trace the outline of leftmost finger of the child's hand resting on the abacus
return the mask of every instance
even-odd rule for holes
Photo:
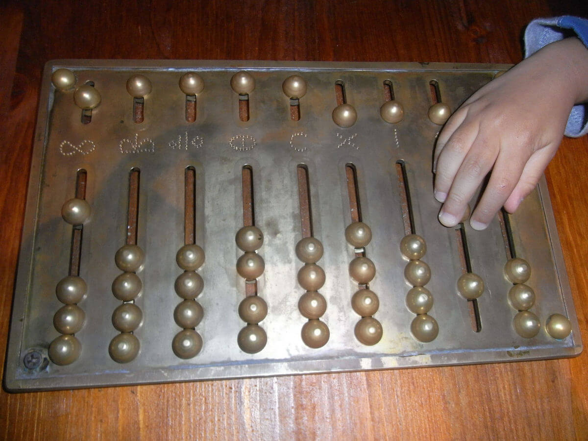
[[[435,174],[435,199],[439,202],[445,202],[453,180],[462,166],[462,162],[470,151],[473,142],[478,135],[479,126],[477,123],[462,125],[453,132],[453,135],[443,147],[442,153],[437,161],[437,172]]]

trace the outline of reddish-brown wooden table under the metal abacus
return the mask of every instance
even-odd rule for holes
[[[145,3],[145,5],[143,5]],[[43,65],[54,58],[515,63],[537,16],[579,0],[33,2],[0,6],[0,359],[14,289]],[[163,2],[162,2],[163,3]],[[171,3],[171,2],[170,2]],[[531,4],[529,4],[531,3]],[[125,8],[121,6],[125,4]],[[547,170],[588,342],[588,138]],[[588,436],[588,355],[500,365],[9,394],[6,439]],[[4,363],[2,363],[4,365]]]

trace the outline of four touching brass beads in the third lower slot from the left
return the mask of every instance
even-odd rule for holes
[[[202,337],[195,328],[202,321],[204,310],[195,299],[204,288],[204,280],[196,272],[204,260],[204,250],[193,243],[182,246],[176,254],[176,263],[184,272],[173,287],[183,301],[173,310],[173,319],[182,330],[173,338],[172,350],[182,359],[193,358],[202,349]]]

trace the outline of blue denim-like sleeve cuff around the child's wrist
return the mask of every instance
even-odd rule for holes
[[[556,18],[537,18],[524,31],[524,56],[531,56],[554,41],[577,36],[588,48],[588,19],[564,15]],[[588,75],[588,73],[587,73]],[[582,136],[588,133],[588,104],[573,106],[567,120],[566,136]]]

